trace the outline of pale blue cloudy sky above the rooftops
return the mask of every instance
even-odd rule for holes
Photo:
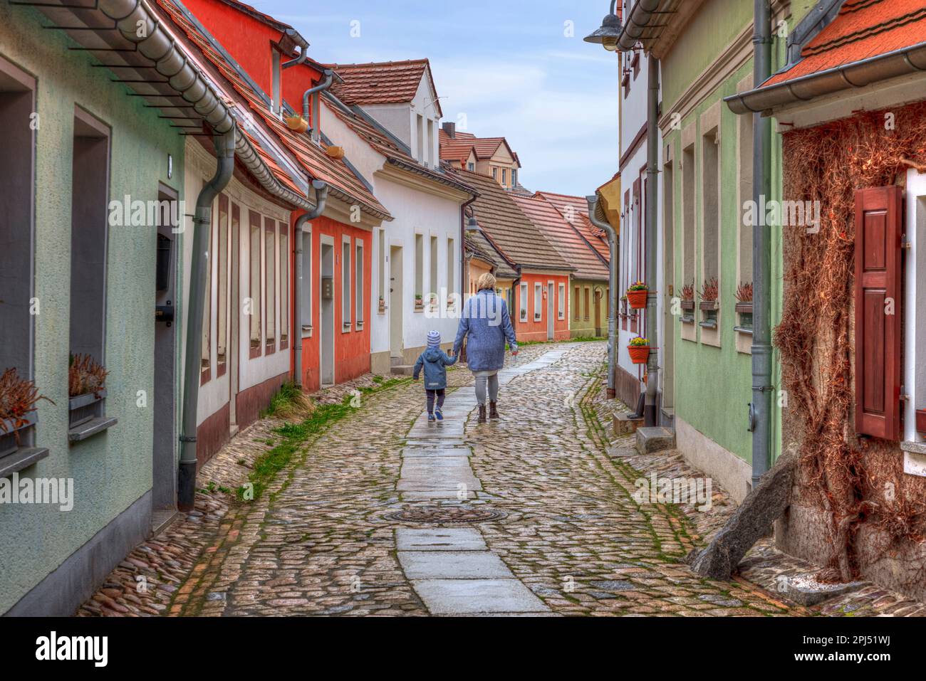
[[[428,57],[444,120],[465,114],[469,132],[506,137],[528,189],[584,195],[618,170],[618,58],[582,42],[607,0],[250,4],[292,24],[321,62]]]

